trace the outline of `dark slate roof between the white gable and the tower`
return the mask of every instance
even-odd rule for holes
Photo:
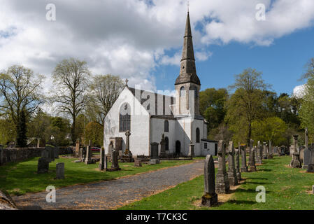
[[[145,90],[138,90],[141,91],[141,94],[139,94],[139,96],[136,94],[136,89],[132,88],[132,87],[128,87],[127,88],[131,91],[131,93],[134,95],[134,97],[136,97],[136,99],[138,99],[139,102],[141,102],[141,104],[143,105],[148,99],[150,99],[150,96],[148,96],[147,98],[143,99],[142,93]],[[163,119],[175,119],[173,116],[173,112],[170,111],[171,114],[166,114],[166,108],[170,109],[170,106],[173,105],[175,103],[175,98],[174,97],[170,97],[170,96],[166,96],[163,94],[157,94],[155,92],[150,92],[152,94],[155,94],[155,115],[152,115],[153,118],[163,118]],[[163,104],[162,105],[158,105],[158,99],[160,100],[159,97],[162,97],[163,99]],[[141,99],[140,99],[141,98]],[[162,114],[158,114],[158,106],[162,106]],[[145,108],[145,107],[144,107]],[[149,108],[145,108],[147,111],[149,110]]]

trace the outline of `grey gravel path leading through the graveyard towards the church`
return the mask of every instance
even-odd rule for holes
[[[115,209],[203,174],[204,160],[179,167],[113,181],[69,186],[56,190],[56,203],[45,201],[46,192],[13,197],[19,209]]]

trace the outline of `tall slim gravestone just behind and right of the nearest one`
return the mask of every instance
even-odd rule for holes
[[[216,191],[220,194],[229,193],[229,179],[226,171],[226,144],[220,140],[218,143],[218,172],[216,176]]]

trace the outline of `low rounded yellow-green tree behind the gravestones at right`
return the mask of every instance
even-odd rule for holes
[[[277,117],[265,118],[264,120],[254,120],[252,122],[252,139],[255,141],[272,141],[273,145],[281,146],[285,144],[285,132],[287,125]]]

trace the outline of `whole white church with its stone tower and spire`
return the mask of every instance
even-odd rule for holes
[[[180,75],[175,83],[176,96],[146,92],[126,85],[105,118],[106,153],[109,144],[125,151],[125,133],[129,131],[129,150],[134,156],[150,156],[151,144],[159,144],[163,136],[166,154],[188,155],[190,145],[194,145],[195,156],[217,154],[217,141],[207,139],[206,120],[199,113],[200,87],[190,15],[187,13]]]

